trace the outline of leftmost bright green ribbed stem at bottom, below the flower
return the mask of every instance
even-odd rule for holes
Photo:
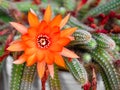
[[[20,90],[21,79],[23,74],[24,64],[13,64],[12,76],[10,81],[10,90]]]

